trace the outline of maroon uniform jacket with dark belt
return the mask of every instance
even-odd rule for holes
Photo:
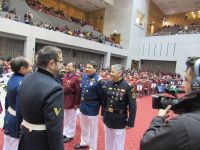
[[[64,108],[73,109],[80,104],[80,76],[76,73],[64,74],[62,85],[64,89]]]

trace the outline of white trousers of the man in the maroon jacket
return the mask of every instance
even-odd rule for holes
[[[73,138],[76,131],[76,110],[64,109],[63,135]]]

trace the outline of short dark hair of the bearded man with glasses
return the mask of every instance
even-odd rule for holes
[[[37,55],[37,67],[46,68],[49,61],[58,60],[58,55],[62,53],[61,49],[55,46],[44,46]]]

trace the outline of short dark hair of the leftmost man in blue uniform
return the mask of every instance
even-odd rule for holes
[[[20,71],[21,67],[28,68],[29,62],[25,57],[19,56],[16,58],[13,58],[10,62],[11,69],[14,73],[17,73]]]

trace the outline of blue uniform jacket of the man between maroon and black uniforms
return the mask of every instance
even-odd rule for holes
[[[101,101],[103,100],[101,77],[95,73],[92,76],[84,74],[82,77],[82,90],[80,111],[88,116],[99,114]]]

